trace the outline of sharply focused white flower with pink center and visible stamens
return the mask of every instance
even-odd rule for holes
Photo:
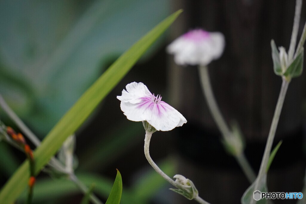
[[[131,121],[147,121],[156,130],[169,131],[186,123],[185,117],[172,106],[162,101],[160,95],[151,94],[143,83],[132,82],[126,85],[120,107]]]

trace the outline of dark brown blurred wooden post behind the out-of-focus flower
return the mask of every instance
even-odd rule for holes
[[[298,38],[306,20],[305,4]],[[184,12],[172,27],[171,40],[192,28],[225,35],[223,56],[209,65],[211,83],[226,121],[239,123],[246,138],[247,157],[257,172],[281,87],[281,78],[273,72],[270,41],[274,39],[277,46],[284,46],[288,51],[295,1],[173,0],[172,8],[173,11],[184,9]],[[171,104],[188,121],[182,127],[184,130],[177,131],[181,135],[179,151],[183,155],[179,173],[185,173],[191,180],[194,178],[201,196],[208,202],[239,203],[249,184],[220,144],[220,133],[203,97],[197,69],[175,65],[172,56],[169,61]],[[273,172],[272,165],[270,191],[301,191],[305,168],[301,161],[301,109],[305,89],[304,71],[292,80],[285,99],[275,137],[276,143],[281,139],[284,143],[273,163],[275,167],[280,161],[280,170]],[[192,139],[194,143],[190,142]],[[283,157],[291,161],[281,162]],[[287,176],[291,182],[280,181]],[[187,202],[178,198],[175,203]]]

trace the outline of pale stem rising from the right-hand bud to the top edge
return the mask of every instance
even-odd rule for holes
[[[293,54],[294,54],[295,46],[297,43],[297,33],[299,30],[299,25],[300,25],[301,10],[302,10],[302,0],[296,0],[293,28],[292,28],[290,46],[289,46],[289,51],[288,51],[289,64],[291,60],[293,59]]]

